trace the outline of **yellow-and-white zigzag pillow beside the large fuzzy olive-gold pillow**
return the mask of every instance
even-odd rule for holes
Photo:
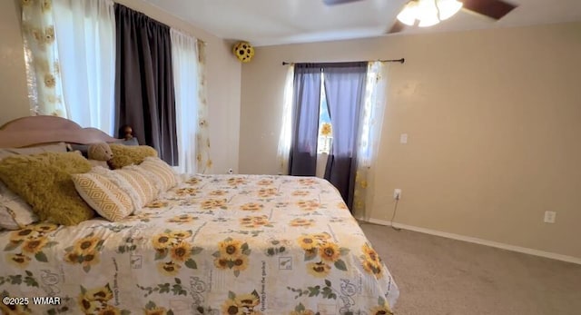
[[[71,177],[74,188],[81,198],[103,218],[109,221],[120,221],[133,212],[133,202],[129,194],[107,179],[105,175],[92,171],[73,174]]]

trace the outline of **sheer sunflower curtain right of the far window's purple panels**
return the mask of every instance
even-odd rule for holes
[[[359,124],[359,147],[353,214],[356,218],[369,219],[369,208],[373,205],[373,183],[377,161],[379,139],[383,124],[388,88],[388,64],[368,64],[365,103]]]

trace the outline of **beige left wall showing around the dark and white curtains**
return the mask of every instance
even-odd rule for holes
[[[142,0],[117,2],[206,42],[213,172],[237,171],[241,65],[231,54],[231,45]],[[0,124],[29,114],[19,3],[0,1]]]

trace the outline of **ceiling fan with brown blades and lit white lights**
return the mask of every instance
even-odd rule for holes
[[[340,5],[358,1],[361,0],[323,0],[323,3],[325,5]],[[433,17],[428,19],[429,21],[419,22],[420,27],[438,24],[441,20],[456,14],[460,8],[499,20],[517,7],[517,5],[512,5],[503,0],[409,0],[399,13],[396,22],[389,29],[388,34],[398,33],[406,25],[415,25],[417,16],[412,13],[417,14],[417,9],[423,10],[425,6],[429,6],[428,10],[435,11],[433,12]],[[444,13],[444,9],[447,9],[447,13]]]

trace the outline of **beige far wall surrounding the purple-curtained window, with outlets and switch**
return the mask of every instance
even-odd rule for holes
[[[581,23],[260,47],[242,66],[241,172],[277,172],[281,61],[405,57],[390,65],[371,217],[389,221],[400,188],[400,223],[581,258],[579,34]]]

